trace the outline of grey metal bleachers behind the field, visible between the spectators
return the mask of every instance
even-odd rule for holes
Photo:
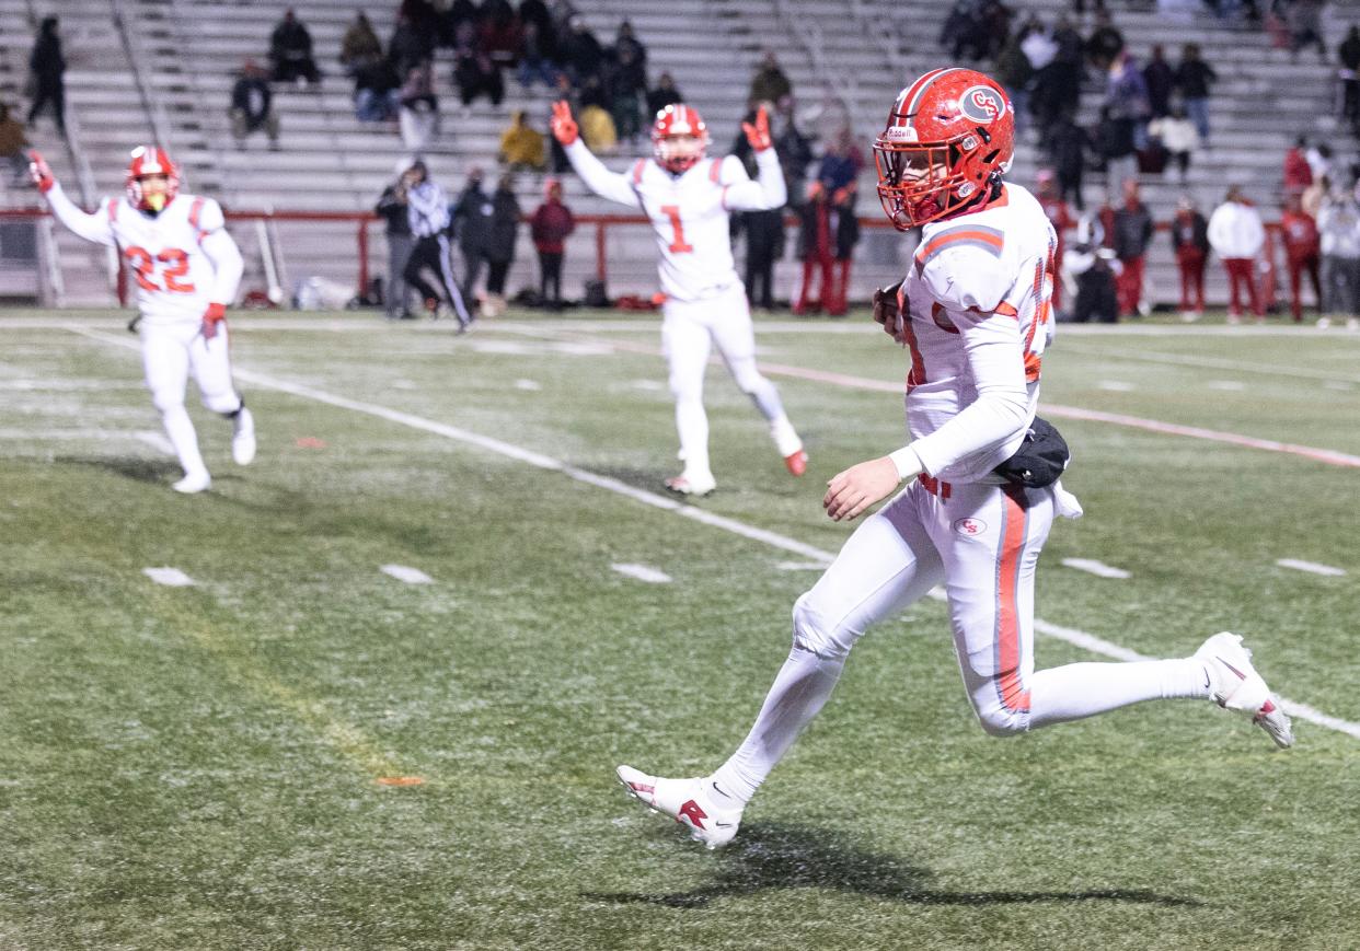
[[[231,84],[246,58],[265,60],[269,34],[291,5],[311,33],[316,58],[325,79],[320,88],[275,86],[282,120],[279,151],[269,151],[262,134],[238,148],[228,128]],[[117,194],[128,149],[156,140],[181,162],[185,187],[219,198],[228,211],[364,212],[390,181],[394,164],[405,158],[396,124],[364,124],[354,115],[352,83],[337,62],[340,39],[360,10],[379,37],[390,37],[394,0],[0,0],[0,95],[19,101],[33,29],[41,16],[61,19],[67,72],[68,126],[72,149],[56,137],[50,120],[39,118],[30,139],[49,155],[73,197],[92,205],[99,194]],[[1019,0],[1017,18],[1036,12],[1051,23],[1068,12],[1066,0]],[[647,45],[649,76],[668,71],[687,99],[709,121],[714,151],[734,141],[747,107],[752,71],[766,49],[779,56],[790,76],[805,132],[827,136],[849,121],[861,143],[879,130],[884,110],[913,76],[940,65],[940,24],[948,4],[937,0],[590,0],[581,15],[605,45],[624,18]],[[1156,217],[1166,220],[1176,198],[1191,192],[1202,208],[1221,198],[1229,181],[1240,182],[1273,217],[1280,160],[1293,136],[1333,134],[1329,71],[1311,52],[1291,57],[1270,48],[1259,31],[1236,30],[1195,18],[1172,22],[1151,10],[1111,3],[1115,24],[1134,56],[1144,58],[1152,43],[1163,43],[1174,58],[1187,38],[1198,42],[1219,71],[1214,90],[1212,149],[1195,159],[1186,187],[1174,177],[1144,177],[1145,198]],[[1080,24],[1089,29],[1088,24]],[[1329,42],[1340,39],[1342,24],[1327,22]],[[979,68],[986,68],[981,64]],[[511,110],[525,109],[530,121],[547,129],[549,92],[543,86],[522,90],[506,76],[500,106],[479,101],[458,105],[447,53],[437,60],[441,130],[426,149],[432,175],[456,194],[472,166],[494,179],[500,130]],[[1083,120],[1092,120],[1102,88],[1083,96]],[[1270,117],[1270,121],[1263,121]],[[1281,117],[1288,117],[1281,121]],[[623,168],[632,156],[646,155],[646,137],[622,143],[608,164]],[[80,160],[83,159],[83,167]],[[1040,164],[1035,144],[1021,137],[1012,178],[1034,179]],[[517,193],[525,212],[541,194],[541,174],[521,174]],[[864,173],[860,213],[873,216],[872,162]],[[83,187],[76,187],[78,185]],[[566,177],[567,201],[579,213],[620,213]],[[794,185],[797,187],[797,185]],[[1099,204],[1100,177],[1088,177],[1088,204]],[[33,205],[31,192],[10,189],[0,200],[8,207]],[[112,299],[107,259],[57,228],[63,303],[107,303]],[[371,259],[382,270],[385,247],[381,227],[373,226]],[[356,227],[352,221],[273,221],[268,227],[238,221],[233,232],[248,258],[248,288],[264,281],[264,247],[272,246],[279,283],[291,291],[307,276],[354,285]],[[790,242],[792,246],[793,242]],[[1164,238],[1149,261],[1149,288],[1156,300],[1175,295],[1174,270]],[[864,296],[880,283],[885,269],[900,259],[903,243],[891,231],[866,231],[853,292]],[[533,285],[536,265],[528,235],[522,235],[510,291]],[[607,243],[609,291],[650,293],[656,287],[654,251],[645,228],[609,231]],[[787,255],[792,258],[792,254]],[[798,265],[781,262],[781,296],[797,283]],[[594,234],[578,231],[567,251],[566,291],[579,293],[594,273]],[[1210,296],[1223,293],[1217,269],[1210,269]]]

